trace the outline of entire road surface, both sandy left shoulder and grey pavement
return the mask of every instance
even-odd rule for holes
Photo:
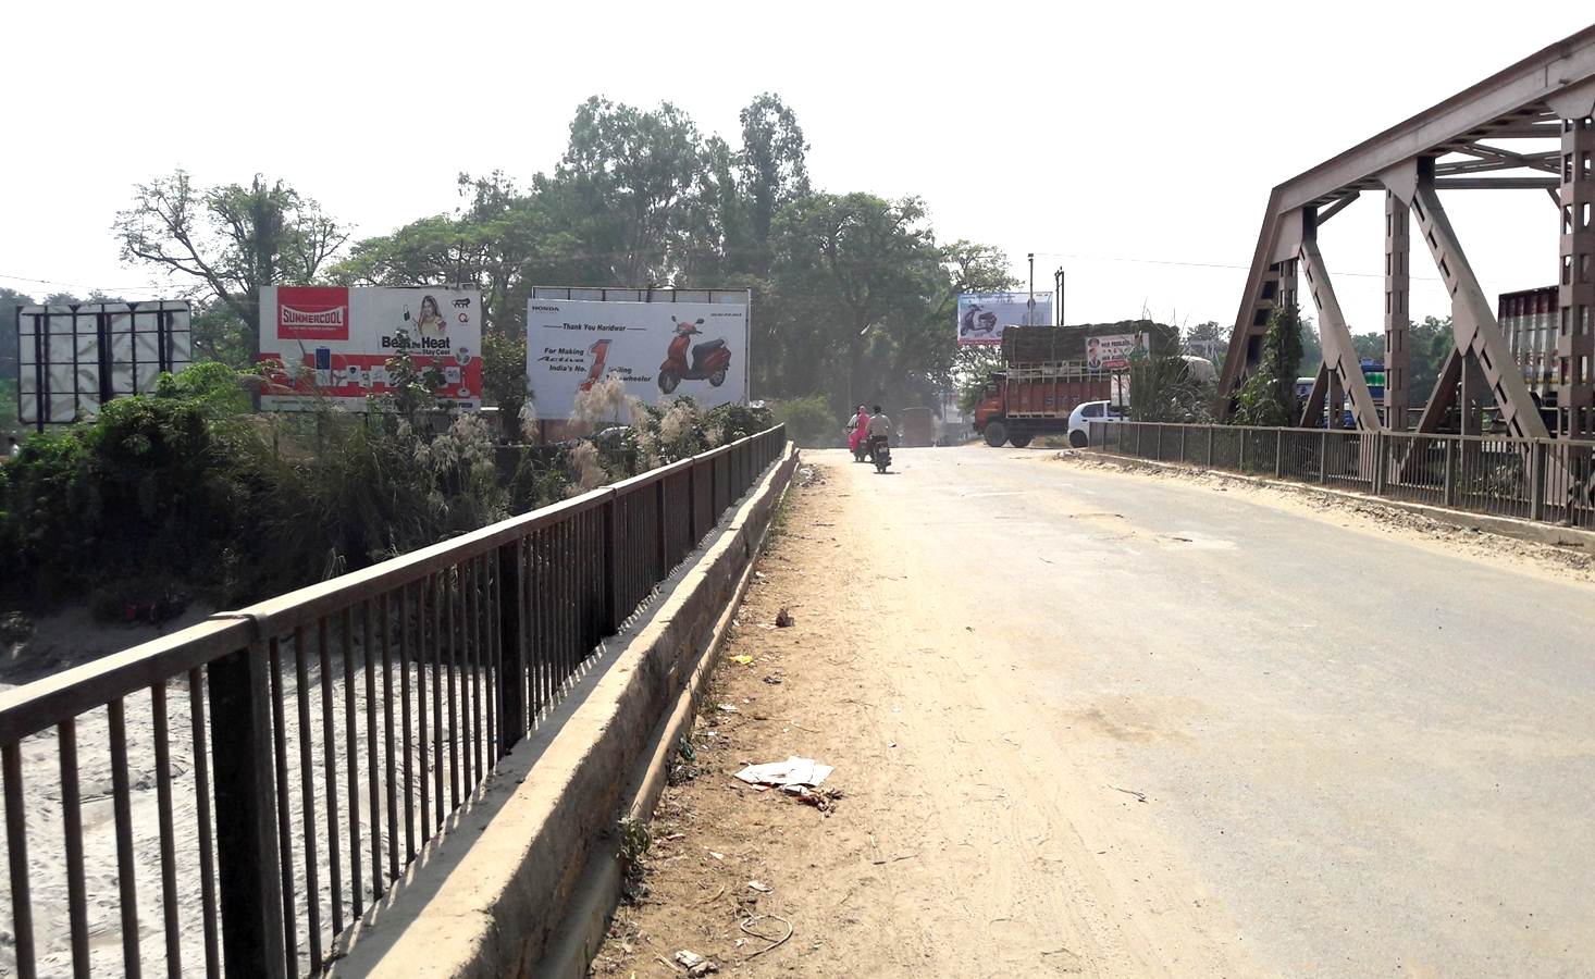
[[[1584,563],[1050,451],[805,461],[597,974],[1595,971]],[[834,812],[731,778],[788,754]]]

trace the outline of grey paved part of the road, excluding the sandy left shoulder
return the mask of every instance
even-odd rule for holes
[[[1153,947],[1211,928],[1235,971],[1595,974],[1595,588],[1051,454],[809,456],[857,494],[847,533],[981,630],[1006,737],[1096,813],[1089,871],[1201,909],[1152,907]]]

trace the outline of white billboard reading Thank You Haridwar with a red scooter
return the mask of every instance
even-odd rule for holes
[[[684,303],[547,298],[526,303],[526,378],[542,418],[569,418],[577,392],[612,376],[649,405],[748,399],[748,293]],[[668,293],[656,293],[668,295]]]

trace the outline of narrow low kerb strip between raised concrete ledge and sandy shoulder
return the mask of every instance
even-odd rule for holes
[[[796,448],[791,450],[790,458],[783,464],[796,467]],[[785,499],[790,478],[788,474],[788,485],[782,485],[777,493],[775,507]],[[648,823],[652,820],[654,807],[659,805],[659,797],[664,794],[665,781],[670,777],[670,759],[675,757],[676,745],[692,729],[692,721],[697,718],[699,703],[708,689],[710,676],[715,673],[715,660],[726,644],[731,622],[742,607],[742,598],[748,593],[748,585],[753,584],[753,569],[758,566],[759,553],[764,552],[770,523],[770,520],[766,520],[759,529],[753,547],[753,560],[743,568],[735,593],[726,603],[726,611],[715,620],[713,630],[703,643],[703,655],[699,657],[697,668],[692,670],[692,678],[687,681],[686,689],[681,690],[675,710],[659,722],[652,751],[640,762],[632,778],[632,805],[625,815],[633,821]],[[598,953],[598,947],[603,946],[609,933],[609,920],[614,917],[616,904],[620,899],[620,861],[593,859],[589,864],[587,875],[576,887],[566,906],[565,918],[560,922],[558,936],[552,949],[531,973],[538,979],[585,979],[593,955]]]

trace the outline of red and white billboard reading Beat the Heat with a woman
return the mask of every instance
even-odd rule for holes
[[[260,360],[281,360],[260,397],[295,411],[314,399],[364,410],[389,394],[388,359],[408,349],[416,370],[437,367],[439,399],[482,403],[482,293],[475,289],[346,289],[266,285],[260,290]]]

